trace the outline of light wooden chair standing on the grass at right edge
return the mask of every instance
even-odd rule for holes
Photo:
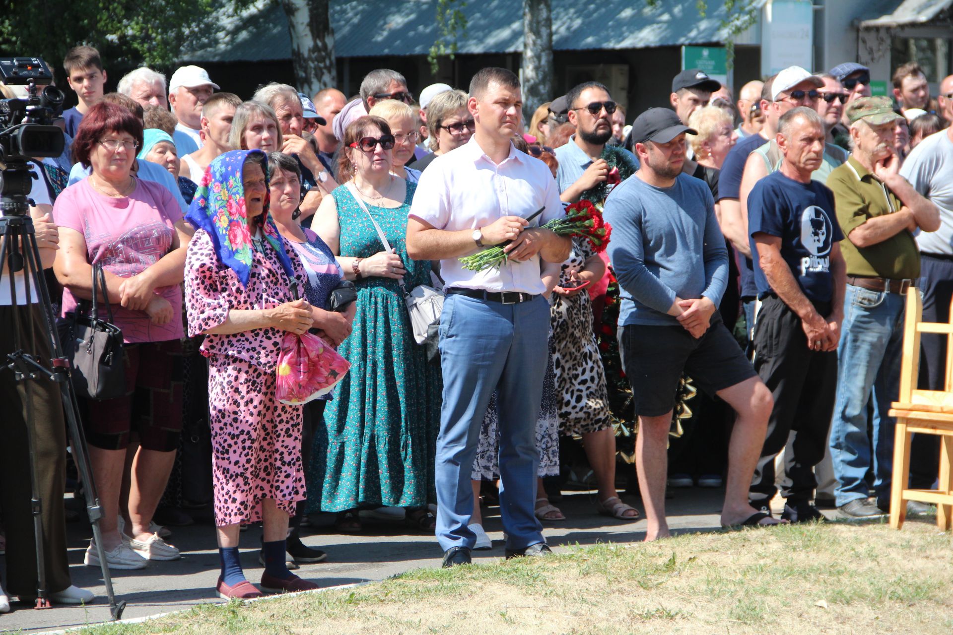
[[[946,380],[943,390],[917,388],[921,333],[946,336]],[[937,525],[941,529],[953,528],[953,472],[950,471],[953,464],[953,322],[923,322],[923,300],[919,288],[911,287],[906,295],[900,396],[889,414],[897,418],[890,526],[896,529],[902,527],[907,501],[921,501],[936,504]],[[914,432],[936,434],[941,438],[939,489],[906,487],[910,479],[910,439]]]

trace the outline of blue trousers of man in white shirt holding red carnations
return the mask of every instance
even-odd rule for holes
[[[436,439],[436,539],[473,548],[471,468],[479,430],[499,389],[499,510],[506,548],[545,542],[533,513],[537,416],[549,355],[549,303],[503,305],[450,293],[440,316],[443,405]]]

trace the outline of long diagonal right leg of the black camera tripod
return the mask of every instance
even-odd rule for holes
[[[39,248],[36,245],[36,237],[30,233],[30,248],[25,249],[27,258],[31,262],[33,271],[40,271],[36,266],[40,263]],[[122,612],[126,608],[125,602],[116,602],[115,594],[112,590],[112,576],[110,575],[109,565],[106,562],[106,554],[103,552],[103,541],[99,531],[99,520],[103,516],[102,506],[99,503],[99,497],[96,494],[96,486],[92,480],[92,466],[90,465],[90,456],[86,446],[86,436],[79,427],[79,406],[76,402],[76,395],[72,390],[70,382],[69,366],[64,364],[66,355],[59,341],[59,333],[56,330],[56,319],[52,313],[52,304],[50,301],[50,290],[47,288],[46,279],[42,273],[35,276],[36,287],[39,289],[43,313],[47,324],[47,334],[50,337],[53,359],[51,360],[51,379],[59,384],[60,396],[63,401],[63,410],[66,414],[67,425],[70,430],[71,446],[73,458],[76,462],[76,468],[79,470],[80,477],[86,487],[86,511],[90,517],[92,527],[92,539],[96,546],[99,556],[99,564],[103,573],[103,583],[106,585],[106,596],[110,603],[110,612],[113,620],[122,617]]]

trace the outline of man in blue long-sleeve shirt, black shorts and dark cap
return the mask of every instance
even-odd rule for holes
[[[672,110],[639,115],[632,138],[641,168],[613,190],[604,212],[621,288],[622,367],[639,416],[636,467],[648,520],[645,540],[669,535],[665,447],[682,371],[738,412],[721,524],[777,524],[748,505],[773,401],[716,310],[728,254],[711,192],[681,173],[686,131],[695,133]]]

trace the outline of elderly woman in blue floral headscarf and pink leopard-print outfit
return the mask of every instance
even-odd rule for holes
[[[275,399],[284,331],[306,332],[311,307],[298,299],[305,272],[269,218],[268,162],[260,150],[232,150],[206,171],[187,219],[195,236],[186,257],[189,334],[206,335],[212,427],[219,596],[261,593],[238,560],[241,525],[262,521],[263,590],[302,591],[314,583],[285,564],[289,517],[305,499],[301,407]]]

